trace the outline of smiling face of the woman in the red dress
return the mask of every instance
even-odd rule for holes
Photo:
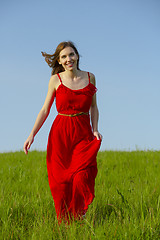
[[[72,47],[64,48],[59,54],[59,64],[62,64],[65,70],[77,68],[78,56]]]

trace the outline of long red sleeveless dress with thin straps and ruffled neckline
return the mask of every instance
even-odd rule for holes
[[[56,90],[58,113],[89,112],[97,88],[90,82],[72,90],[62,83]],[[79,219],[94,199],[96,156],[101,139],[93,135],[90,115],[57,115],[48,137],[47,171],[57,219]]]

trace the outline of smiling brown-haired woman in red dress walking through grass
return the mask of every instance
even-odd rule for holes
[[[46,157],[49,185],[59,222],[82,219],[94,199],[96,156],[102,140],[95,77],[79,69],[79,53],[70,41],[60,43],[53,55],[42,55],[52,76],[24,152],[28,153],[55,98],[58,115],[49,133]]]

